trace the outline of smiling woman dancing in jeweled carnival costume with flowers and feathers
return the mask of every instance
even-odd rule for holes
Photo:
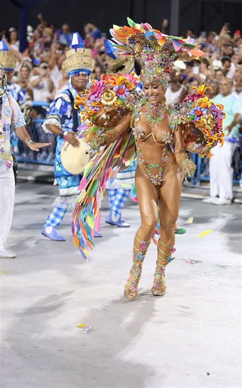
[[[198,89],[198,94],[188,96],[184,103],[168,110],[165,91],[171,67],[173,64],[183,67],[181,58],[197,58],[203,52],[197,49],[192,39],[167,36],[147,23],[135,24],[129,18],[128,23],[130,27],[114,26],[111,34],[117,43],[115,47],[123,55],[132,55],[140,62],[145,96],[132,92],[128,80],[134,84],[135,77],[119,74],[118,77],[102,76],[97,84],[93,84],[86,105],[83,99],[76,97],[76,106],[85,105],[84,111],[92,124],[97,124],[92,114],[94,110],[100,110],[96,116],[105,121],[98,120],[98,126],[87,128],[83,133],[85,141],[90,141],[93,148],[105,147],[84,171],[82,191],[73,214],[72,233],[76,246],[86,257],[85,243],[90,247],[93,245],[93,220],[98,214],[107,179],[115,176],[122,162],[129,165],[136,150],[135,185],[141,226],[134,237],[133,265],[125,286],[125,296],[134,300],[138,294],[142,263],[154,238],[158,205],[160,238],[151,291],[153,295],[165,293],[165,268],[174,259],[174,226],[179,213],[182,180],[196,170],[184,146],[204,156],[214,145],[222,143],[223,113],[221,106],[215,106],[204,96],[204,85]],[[107,95],[116,105],[116,111],[120,106],[124,111],[117,123],[115,120],[112,123],[107,111],[102,114]]]

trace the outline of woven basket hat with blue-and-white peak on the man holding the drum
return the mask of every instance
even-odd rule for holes
[[[78,32],[72,36],[71,50],[66,52],[66,59],[62,64],[63,70],[69,77],[80,73],[91,74],[94,69],[94,60],[91,50],[85,48],[85,42]]]

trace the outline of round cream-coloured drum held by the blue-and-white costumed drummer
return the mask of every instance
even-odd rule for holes
[[[82,174],[90,161],[88,145],[82,139],[77,139],[80,143],[78,148],[75,148],[67,141],[64,142],[61,148],[61,163],[71,175]]]

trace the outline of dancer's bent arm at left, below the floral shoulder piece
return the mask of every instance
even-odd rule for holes
[[[128,128],[130,124],[131,113],[127,111],[117,125],[112,129],[105,131],[101,135],[95,135],[91,139],[90,146],[92,149],[99,149],[102,145],[113,143],[117,140]]]

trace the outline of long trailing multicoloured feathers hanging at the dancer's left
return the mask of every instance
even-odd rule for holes
[[[104,147],[87,164],[79,189],[81,193],[72,213],[74,243],[87,260],[86,244],[92,249],[93,227],[101,207],[103,193],[109,178],[114,178],[122,163],[132,162],[135,154],[134,136],[128,128],[114,143]],[[117,158],[118,162],[117,162]],[[126,164],[128,165],[128,164]]]

